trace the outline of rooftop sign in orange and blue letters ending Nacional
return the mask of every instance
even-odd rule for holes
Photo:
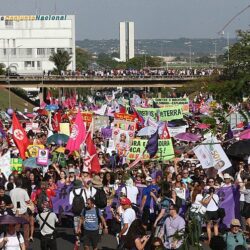
[[[56,21],[67,20],[67,15],[1,16],[1,21]]]

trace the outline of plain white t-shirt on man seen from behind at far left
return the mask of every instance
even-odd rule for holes
[[[19,214],[25,214],[27,212],[26,201],[30,200],[30,197],[26,190],[23,188],[14,188],[10,191],[10,198],[14,205],[14,211],[17,210],[17,203],[20,202]]]

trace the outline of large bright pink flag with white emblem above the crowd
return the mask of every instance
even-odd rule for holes
[[[71,134],[66,149],[68,149],[70,152],[73,152],[74,150],[79,150],[80,145],[83,143],[85,137],[86,128],[83,123],[82,114],[79,111],[76,116],[75,123],[71,127]]]

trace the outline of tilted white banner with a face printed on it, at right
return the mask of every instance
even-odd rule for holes
[[[221,145],[213,144],[218,143],[215,137],[208,138],[202,143],[204,143],[204,145],[195,147],[193,151],[203,168],[214,167],[218,170],[218,173],[220,173],[232,166]]]

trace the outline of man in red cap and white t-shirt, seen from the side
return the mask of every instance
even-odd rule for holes
[[[121,198],[120,204],[122,206],[122,209],[124,210],[124,213],[122,213],[121,215],[122,225],[121,225],[121,231],[119,233],[119,238],[120,242],[124,242],[124,239],[126,237],[130,225],[136,219],[136,214],[134,209],[132,208],[132,203],[130,199],[128,199],[127,197]]]

